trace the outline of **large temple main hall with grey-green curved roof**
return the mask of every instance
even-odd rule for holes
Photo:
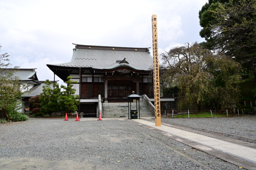
[[[75,95],[83,112],[97,113],[99,95],[104,104],[127,102],[132,91],[154,101],[149,48],[74,45],[70,62],[47,66],[64,82],[68,76],[78,82]]]

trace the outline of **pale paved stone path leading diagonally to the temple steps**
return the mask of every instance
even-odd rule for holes
[[[138,123],[142,123],[144,125],[151,126],[152,128],[159,129],[161,131],[165,131],[167,133],[179,136],[181,138],[185,138],[188,140],[191,140],[193,142],[197,142],[199,144],[202,144],[204,146],[210,147],[212,149],[216,149],[222,152],[225,152],[230,155],[237,156],[239,158],[243,158],[247,161],[251,161],[253,163],[256,163],[256,149],[252,147],[243,146],[240,144],[235,144],[232,142],[227,142],[221,139],[216,139],[213,137],[172,128],[166,125],[161,126],[155,126],[155,123],[149,122],[142,119],[132,119]]]

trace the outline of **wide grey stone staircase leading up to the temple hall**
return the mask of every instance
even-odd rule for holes
[[[128,117],[128,103],[103,103],[103,106],[104,118]],[[137,103],[137,106],[139,109],[139,103]],[[136,110],[136,103],[132,103],[131,107],[132,110]],[[154,116],[154,114],[149,110],[149,107],[146,104],[140,102],[140,116],[149,117]]]

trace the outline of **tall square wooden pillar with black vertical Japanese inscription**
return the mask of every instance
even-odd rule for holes
[[[155,126],[161,126],[160,110],[160,78],[158,62],[158,38],[157,38],[157,19],[152,15],[152,45],[153,45],[153,70],[154,70],[154,97],[155,97]]]

